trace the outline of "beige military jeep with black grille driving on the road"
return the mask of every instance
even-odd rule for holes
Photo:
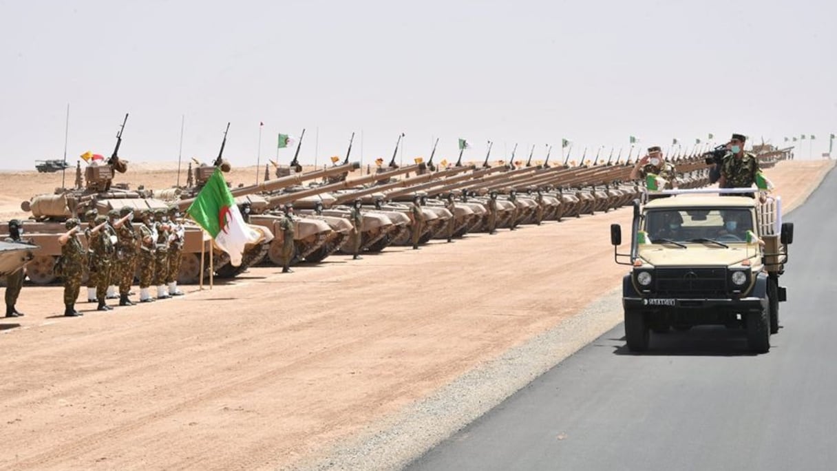
[[[666,190],[668,198],[634,200],[630,253],[620,254],[622,230],[611,225],[623,278],[628,349],[649,348],[651,334],[697,325],[744,329],[747,347],[770,349],[779,329],[778,284],[793,242],[782,223],[781,197],[754,199],[752,189]]]

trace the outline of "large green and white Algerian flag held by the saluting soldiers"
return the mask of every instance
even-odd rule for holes
[[[221,250],[229,254],[233,267],[241,265],[244,246],[258,242],[262,237],[244,224],[220,168],[215,169],[186,212],[212,236]]]

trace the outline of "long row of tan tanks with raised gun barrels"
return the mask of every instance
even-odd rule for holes
[[[22,209],[30,213],[26,224],[28,237],[38,246],[28,262],[28,277],[33,283],[55,281],[53,268],[60,255],[58,235],[64,232],[64,221],[69,217],[79,217],[90,209],[104,214],[123,206],[157,210],[176,205],[183,211],[216,168],[227,172],[231,168],[222,158],[225,136],[213,164],[199,164],[191,169],[189,186],[149,190],[116,184],[116,173],[127,171],[127,163],[118,157],[124,125],[123,122],[117,134],[111,158],[85,168],[82,188],[56,189],[54,194],[23,202]],[[239,267],[231,265],[223,251],[213,251],[215,274],[235,277],[255,265],[282,265],[283,234],[279,222],[287,204],[295,208],[293,265],[321,262],[348,251],[351,205],[356,202],[362,204],[361,251],[378,252],[412,242],[416,224],[413,204],[420,205],[423,215],[419,244],[424,244],[449,236],[460,238],[474,232],[607,212],[630,204],[644,191],[629,179],[631,163],[570,166],[565,162],[550,166],[547,154],[542,165],[531,165],[530,156],[525,165],[492,166],[489,148],[479,167],[461,164],[460,154],[453,166],[436,168],[431,154],[428,163],[399,168],[393,153],[387,166],[379,162],[374,173],[354,177],[360,164],[350,163],[349,153],[342,163],[306,173],[299,171],[301,167],[294,158],[288,167],[277,168],[276,179],[231,188],[245,219],[262,237],[246,248]],[[770,164],[783,158],[788,158],[787,152],[770,153],[764,160]],[[708,168],[700,156],[679,158],[675,163],[680,188],[709,184]],[[198,282],[201,256],[208,253],[211,243],[198,225],[187,223],[179,283]],[[204,264],[204,270],[208,266]]]

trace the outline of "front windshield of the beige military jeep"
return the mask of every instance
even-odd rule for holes
[[[747,240],[753,230],[752,210],[747,208],[677,208],[648,210],[643,230],[651,243],[705,244],[727,247]]]

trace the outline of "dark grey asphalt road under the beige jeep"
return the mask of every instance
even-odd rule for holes
[[[619,325],[408,469],[837,468],[835,197],[831,172],[785,218],[788,302],[768,354],[713,327],[631,355]]]

